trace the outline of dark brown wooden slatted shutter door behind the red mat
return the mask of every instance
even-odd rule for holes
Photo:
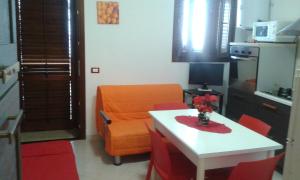
[[[75,126],[69,2],[19,0],[23,131]]]

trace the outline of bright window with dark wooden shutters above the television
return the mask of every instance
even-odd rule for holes
[[[175,0],[173,61],[226,61],[235,0]]]

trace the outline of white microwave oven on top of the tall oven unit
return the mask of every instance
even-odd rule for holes
[[[283,36],[277,33],[287,26],[286,21],[254,22],[252,37],[260,42],[295,42],[295,36]]]

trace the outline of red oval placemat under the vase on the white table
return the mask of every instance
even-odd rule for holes
[[[214,122],[212,120],[209,121],[208,125],[201,126],[199,125],[198,117],[195,116],[176,116],[176,121],[182,124],[185,124],[189,127],[201,130],[201,131],[208,131],[213,133],[230,133],[231,129],[224,124],[220,124],[217,122]]]

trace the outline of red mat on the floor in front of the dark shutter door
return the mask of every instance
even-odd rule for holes
[[[68,141],[23,144],[21,156],[23,180],[79,180]]]

